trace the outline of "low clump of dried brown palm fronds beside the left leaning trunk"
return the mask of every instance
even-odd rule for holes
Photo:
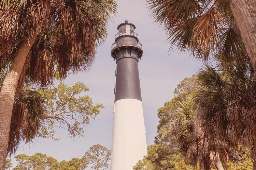
[[[46,117],[47,99],[33,90],[21,90],[13,107],[8,153],[11,155],[20,141],[30,143],[39,135]]]

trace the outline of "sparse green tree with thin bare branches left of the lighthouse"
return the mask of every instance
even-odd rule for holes
[[[48,127],[44,126],[40,133],[43,137],[54,138],[53,124],[66,128],[71,137],[81,136],[85,125],[90,123],[90,119],[95,119],[100,113],[100,108],[104,108],[102,104],[93,105],[93,100],[89,96],[82,95],[89,91],[82,82],[77,82],[71,87],[61,82],[57,87],[39,91],[49,100],[46,116]]]

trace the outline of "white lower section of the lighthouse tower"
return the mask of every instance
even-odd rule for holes
[[[114,105],[111,170],[132,170],[147,155],[142,102],[117,100]]]

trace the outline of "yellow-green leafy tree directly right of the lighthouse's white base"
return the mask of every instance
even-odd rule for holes
[[[148,155],[136,165],[136,169],[159,169],[159,170],[174,170],[174,169],[192,169],[189,157],[184,157],[182,150],[177,145],[180,140],[173,139],[174,129],[170,128],[170,121],[174,120],[174,115],[177,113],[177,103],[181,100],[191,100],[191,93],[195,90],[196,77],[193,75],[180,82],[175,88],[174,98],[166,102],[165,105],[158,109],[159,125],[157,126],[158,135],[155,137],[155,143],[148,147]],[[192,110],[193,111],[193,110]],[[176,116],[182,114],[176,114]],[[194,111],[191,112],[191,125],[194,122]],[[185,117],[183,120],[186,120]],[[180,119],[176,119],[175,123]],[[186,123],[185,123],[186,125]],[[177,131],[176,131],[177,132]],[[194,138],[192,130],[192,138]],[[186,139],[183,139],[186,142]],[[189,155],[188,155],[189,156]],[[196,169],[198,165],[196,163]]]

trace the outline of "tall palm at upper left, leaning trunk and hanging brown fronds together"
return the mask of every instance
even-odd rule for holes
[[[0,2],[0,65],[10,66],[0,92],[0,169],[5,166],[16,91],[24,81],[46,87],[56,74],[65,78],[88,69],[116,7],[114,0]]]

